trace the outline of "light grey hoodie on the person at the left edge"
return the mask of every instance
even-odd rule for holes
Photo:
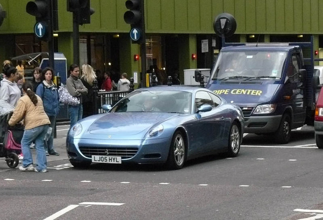
[[[11,82],[8,79],[4,78],[1,81],[0,99],[16,107],[16,104],[20,97],[21,91],[16,82]]]

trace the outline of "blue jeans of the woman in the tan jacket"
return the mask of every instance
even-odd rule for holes
[[[33,156],[31,155],[30,145],[35,142],[36,145],[36,169],[39,171],[47,169],[47,159],[44,149],[44,139],[47,133],[48,125],[41,125],[35,128],[25,130],[21,139],[21,150],[23,154],[22,166],[27,167],[33,164]]]

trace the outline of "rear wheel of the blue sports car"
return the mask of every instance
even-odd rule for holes
[[[230,136],[229,136],[229,145],[228,145],[228,156],[236,157],[240,151],[241,144],[241,131],[238,127],[238,124],[234,122],[231,125]]]

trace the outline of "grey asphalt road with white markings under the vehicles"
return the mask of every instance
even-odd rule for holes
[[[0,162],[0,219],[323,219],[323,151],[312,127],[292,142],[247,134],[236,158],[163,166],[93,164],[74,169],[57,128],[60,156],[48,173],[20,172]]]

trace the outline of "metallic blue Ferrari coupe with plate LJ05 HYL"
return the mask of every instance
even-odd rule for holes
[[[241,109],[210,90],[161,86],[135,90],[108,113],[76,123],[67,153],[76,168],[91,163],[166,163],[181,169],[186,160],[240,150]]]

